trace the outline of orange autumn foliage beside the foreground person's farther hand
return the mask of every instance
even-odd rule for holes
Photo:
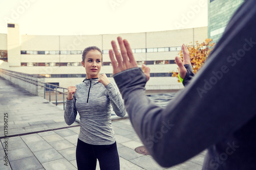
[[[201,66],[204,64],[205,60],[207,59],[208,55],[214,48],[215,43],[211,43],[212,39],[205,39],[205,42],[202,42],[201,44],[196,41],[196,45],[186,45],[189,51],[189,56],[191,60],[191,65],[193,67],[194,74],[197,73],[197,71],[201,68]],[[183,61],[183,54],[182,51],[178,53],[181,60]],[[179,67],[178,67],[179,70]],[[178,72],[172,71],[173,75],[172,77],[177,77],[178,82],[180,82],[178,78]]]

